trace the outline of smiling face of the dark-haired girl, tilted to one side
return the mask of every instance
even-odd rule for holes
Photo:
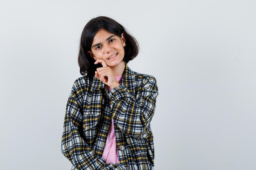
[[[100,29],[94,36],[91,51],[88,51],[94,60],[102,59],[110,68],[124,64],[124,46],[126,46],[124,33],[121,37]]]

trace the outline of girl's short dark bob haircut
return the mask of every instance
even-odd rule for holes
[[[106,16],[93,18],[85,25],[81,35],[78,55],[78,64],[81,75],[94,76],[96,68],[102,67],[100,63],[94,64],[95,60],[87,53],[88,51],[91,51],[94,36],[100,29],[104,29],[119,37],[124,33],[124,38],[126,39],[126,46],[124,46],[124,62],[128,63],[139,53],[139,44],[137,40],[127,33],[124,26]]]

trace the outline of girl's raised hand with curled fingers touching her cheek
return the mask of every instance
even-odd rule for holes
[[[113,75],[111,68],[106,64],[106,62],[102,59],[97,59],[94,64],[98,63],[101,63],[103,67],[96,69],[95,77],[101,80],[104,84],[110,86],[111,89],[119,86],[120,84],[117,82],[115,75]]]

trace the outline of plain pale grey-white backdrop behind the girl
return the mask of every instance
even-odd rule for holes
[[[155,170],[256,169],[254,0],[1,0],[0,169],[70,170],[65,108],[85,24],[137,38],[128,63],[157,79]]]

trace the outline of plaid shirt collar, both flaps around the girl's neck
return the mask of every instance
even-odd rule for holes
[[[124,68],[123,78],[121,79],[120,85],[126,86],[129,90],[131,90],[134,93],[134,91],[135,91],[135,74],[128,67],[126,62],[124,62],[124,64],[125,64],[125,68]],[[91,91],[100,90],[101,88],[104,88],[105,86],[106,85],[103,82],[101,82],[99,79],[97,79],[95,76],[93,76]]]

